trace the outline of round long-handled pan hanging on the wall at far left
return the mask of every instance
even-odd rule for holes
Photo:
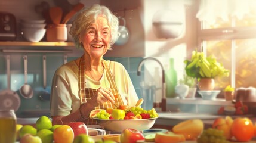
[[[7,55],[7,89],[0,92],[0,109],[17,111],[20,108],[20,97],[10,89],[10,55]]]

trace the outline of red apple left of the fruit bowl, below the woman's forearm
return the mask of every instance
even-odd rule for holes
[[[83,122],[70,122],[68,124],[74,131],[74,136],[78,136],[79,134],[88,135],[88,129],[85,123]]]

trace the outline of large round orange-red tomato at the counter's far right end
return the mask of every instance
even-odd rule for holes
[[[238,141],[247,142],[254,136],[254,125],[249,118],[236,118],[231,126],[231,133]]]

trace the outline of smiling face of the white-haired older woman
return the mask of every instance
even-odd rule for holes
[[[80,34],[79,39],[91,57],[103,56],[110,46],[110,27],[107,19],[98,17],[94,24]]]

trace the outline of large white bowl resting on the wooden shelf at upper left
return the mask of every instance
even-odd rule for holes
[[[21,29],[23,32],[24,38],[30,42],[39,42],[44,38],[46,29],[42,28],[23,28]]]

